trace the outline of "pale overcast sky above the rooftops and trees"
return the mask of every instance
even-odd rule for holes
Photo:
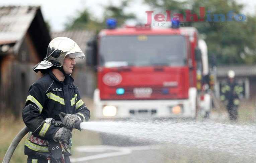
[[[245,4],[243,13],[255,13],[255,0],[239,0],[238,3]],[[0,6],[7,5],[40,5],[44,19],[51,25],[52,31],[63,31],[64,24],[71,21],[71,18],[78,15],[78,11],[88,8],[90,13],[101,19],[103,15],[103,6],[112,3],[120,4],[120,0],[8,0],[0,1]],[[127,13],[135,13],[139,20],[143,23],[147,22],[147,14],[145,11],[150,10],[150,6],[143,4],[143,0],[134,0]]]

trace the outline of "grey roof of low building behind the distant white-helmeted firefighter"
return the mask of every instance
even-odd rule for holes
[[[235,71],[236,76],[256,76],[256,65],[218,66],[217,76],[227,77],[229,70]]]

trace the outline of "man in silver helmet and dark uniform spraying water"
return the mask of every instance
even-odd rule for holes
[[[69,163],[70,138],[75,122],[85,122],[90,118],[90,111],[70,76],[76,64],[75,58],[85,58],[76,42],[67,37],[57,37],[49,43],[46,58],[33,67],[36,73],[40,71],[44,76],[30,86],[22,111],[23,121],[30,130],[24,149],[28,163],[47,162],[36,152],[49,152],[49,141],[63,144],[63,158]],[[64,127],[46,123],[48,118],[61,121],[61,112],[66,113]]]

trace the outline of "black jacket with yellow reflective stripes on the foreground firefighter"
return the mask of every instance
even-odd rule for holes
[[[88,121],[90,111],[80,97],[74,79],[66,76],[59,81],[52,71],[38,79],[30,86],[22,118],[29,128],[25,141],[25,154],[48,152],[48,140],[53,140],[59,127],[49,125],[46,118],[60,120],[60,112],[76,114],[82,121]]]

